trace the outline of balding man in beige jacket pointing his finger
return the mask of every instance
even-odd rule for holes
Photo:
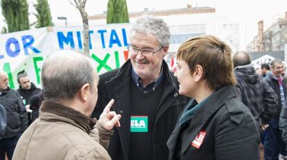
[[[40,116],[19,139],[13,159],[110,159],[107,145],[121,116],[90,118],[98,98],[98,74],[80,53],[58,51],[42,66],[44,101]]]

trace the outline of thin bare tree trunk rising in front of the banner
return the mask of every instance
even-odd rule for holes
[[[85,5],[87,0],[73,0],[74,3],[69,0],[71,5],[76,7],[80,11],[82,17],[82,26],[83,26],[83,37],[84,37],[84,54],[89,56],[89,19],[87,12],[85,10]]]

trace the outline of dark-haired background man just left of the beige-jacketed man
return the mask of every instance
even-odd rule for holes
[[[30,81],[30,78],[24,70],[17,73],[17,81],[19,83],[19,89],[17,89],[17,91],[23,100],[26,111],[28,112],[28,125],[30,125],[33,122],[33,110],[30,109],[30,98],[34,95],[40,94],[41,89],[37,88],[34,83]]]

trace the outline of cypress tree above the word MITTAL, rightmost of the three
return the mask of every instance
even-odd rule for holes
[[[128,23],[128,6],[125,0],[109,0],[107,3],[107,24]]]

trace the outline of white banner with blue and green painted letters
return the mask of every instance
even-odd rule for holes
[[[89,26],[89,49],[99,73],[119,68],[128,60],[130,24]],[[9,85],[17,88],[17,73],[25,69],[40,87],[44,60],[65,49],[82,51],[81,27],[47,27],[0,35],[0,70],[8,73]]]

